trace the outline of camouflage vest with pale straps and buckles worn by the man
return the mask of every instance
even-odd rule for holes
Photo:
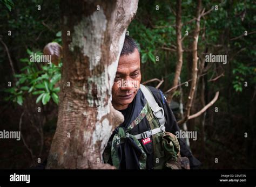
[[[122,143],[123,139],[130,137],[142,150],[139,158],[140,169],[146,169],[147,155],[139,140],[145,140],[150,137],[153,142],[153,169],[181,169],[181,167],[189,169],[188,159],[180,156],[180,145],[177,137],[170,132],[165,132],[164,125],[166,120],[163,108],[158,106],[148,88],[141,84],[140,89],[142,89],[147,100],[146,105],[126,130],[123,127],[118,128],[118,133],[114,135],[112,142],[109,142],[111,143],[111,150],[106,150],[103,154],[104,162],[106,163],[111,156],[113,166],[119,168],[120,161],[117,154],[117,147]],[[138,125],[144,117],[149,121],[151,130],[137,135],[129,134],[129,131]]]

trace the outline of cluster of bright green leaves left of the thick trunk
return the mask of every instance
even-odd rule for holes
[[[34,53],[27,49],[29,55]],[[42,55],[42,52],[36,52],[37,55]],[[42,64],[39,68],[36,63],[31,62],[28,58],[20,59],[25,66],[21,69],[21,74],[16,74],[17,82],[15,86],[7,88],[4,91],[9,93],[5,100],[17,102],[19,105],[23,104],[23,100],[31,95],[38,95],[36,103],[42,102],[43,105],[47,104],[50,99],[58,104],[58,92],[60,88],[57,83],[60,81],[60,68],[53,63]]]

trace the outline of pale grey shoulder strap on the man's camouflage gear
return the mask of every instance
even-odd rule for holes
[[[153,111],[154,116],[158,119],[161,131],[165,131],[165,117],[164,117],[164,109],[162,107],[159,107],[159,105],[156,102],[156,99],[154,99],[154,96],[152,95],[151,91],[146,88],[143,84],[140,84],[140,89],[142,90],[147,103],[149,103],[151,110]]]

